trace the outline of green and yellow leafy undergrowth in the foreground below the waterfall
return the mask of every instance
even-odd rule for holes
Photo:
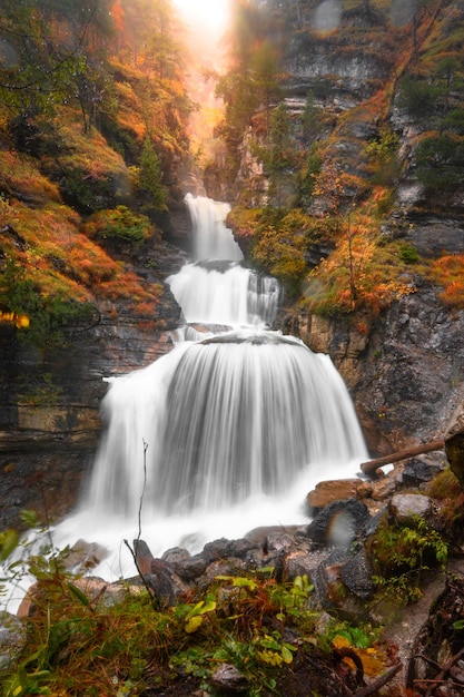
[[[23,563],[11,561],[21,544],[13,531],[0,534],[3,583],[21,580]],[[234,666],[245,694],[256,696],[282,694],[282,671],[296,656],[314,651],[327,662],[345,651],[366,674],[387,664],[379,629],[315,608],[306,576],[280,582],[272,567],[240,570],[161,607],[141,585],[107,589],[72,576],[66,570],[68,553],[48,543],[39,553],[29,549],[26,568],[36,583],[24,620],[27,640],[0,670],[2,697],[150,695],[186,680],[215,694],[211,680],[221,664]]]

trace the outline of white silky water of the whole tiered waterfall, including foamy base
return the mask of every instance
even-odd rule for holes
[[[224,225],[227,206],[191,196],[187,204],[200,238],[196,254],[236,254]],[[208,242],[216,232],[220,242]],[[192,268],[179,274],[186,287]],[[275,295],[269,305],[260,297],[266,284],[256,293],[254,274],[233,268],[247,277],[238,292],[208,265],[201,267],[213,276],[208,292],[190,276],[191,311],[184,306],[184,313],[253,326],[195,334],[196,341],[180,341],[150,366],[108,381],[107,428],[88,491],[53,531],[59,549],[79,538],[108,549],[95,575],[135,575],[124,540],[132,542],[139,523],[142,539],[160,556],[174,546],[197,552],[207,541],[236,539],[257,526],[305,522],[306,493],[320,480],[355,475],[367,457],[330,359],[265,328],[275,316],[276,283],[267,286]],[[178,281],[171,278],[171,287]],[[250,287],[251,303],[230,301],[229,294],[248,297]],[[218,315],[234,307],[226,321],[208,312],[208,298]],[[205,310],[196,313],[197,302]]]

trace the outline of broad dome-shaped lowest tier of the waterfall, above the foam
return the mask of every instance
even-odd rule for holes
[[[268,331],[185,342],[117,379],[105,406],[91,505],[129,518],[144,489],[144,507],[167,516],[285,493],[308,464],[330,467],[363,448],[329,359]]]

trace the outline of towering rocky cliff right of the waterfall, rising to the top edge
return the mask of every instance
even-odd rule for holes
[[[298,22],[290,21],[284,49],[285,101],[294,144],[303,153],[308,145],[319,148],[323,173],[327,179],[330,169],[335,175],[330,190],[316,193],[303,208],[309,216],[335,216],[343,224],[369,206],[376,184],[385,186],[389,203],[377,223],[377,244],[398,242],[412,252],[414,258],[402,274],[411,292],[378,314],[361,308],[333,318],[315,314],[310,305],[303,312],[287,307],[282,327],[299,332],[312,348],[333,357],[352,391],[369,449],[377,454],[442,434],[464,397],[462,297],[446,302],[444,286],[427,271],[450,263],[461,268],[464,171],[452,171],[451,154],[441,158],[435,151],[427,164],[430,177],[424,177],[421,160],[424,140],[428,144],[428,136],[444,132],[445,115],[462,114],[457,32],[464,12],[460,2],[424,3],[415,13],[411,7],[399,12],[396,3],[382,8],[373,3],[369,12],[343,9],[336,2],[315,4],[303,6]],[[454,87],[447,92],[440,66],[451,56],[456,57],[456,73],[450,63],[448,85]],[[422,97],[407,92],[414,91],[412,84],[414,89],[424,88]],[[435,89],[434,104],[427,102],[427,89]],[[316,122],[309,134],[308,95]],[[395,161],[381,158],[375,170],[373,144],[375,149],[385,134],[395,141]],[[461,147],[458,134],[460,129],[450,134],[454,148]],[[257,124],[243,144],[239,187],[256,193],[258,207],[269,203],[269,174],[250,146],[254,138],[259,139]],[[443,181],[434,179],[438,171]],[[240,193],[236,195],[239,199]],[[249,247],[240,222],[235,232]],[[320,257],[329,257],[330,249],[309,245],[305,254],[317,272]],[[396,263],[399,268],[399,259]],[[460,273],[454,282],[457,293]]]

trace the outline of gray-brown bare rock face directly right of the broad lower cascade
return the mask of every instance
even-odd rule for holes
[[[354,397],[367,445],[384,454],[443,438],[464,402],[464,312],[422,284],[361,335],[348,322],[300,317],[302,338],[328,353]]]

